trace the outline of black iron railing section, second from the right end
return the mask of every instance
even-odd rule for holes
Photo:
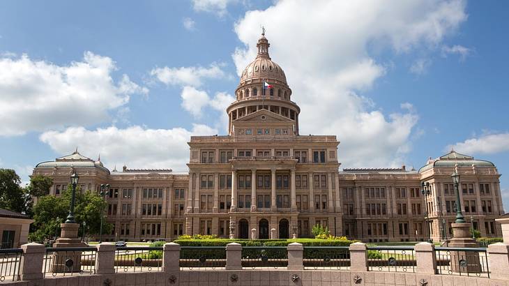
[[[415,272],[413,246],[368,246],[367,271]]]

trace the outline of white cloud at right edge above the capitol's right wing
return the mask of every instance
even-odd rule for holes
[[[466,154],[494,154],[509,151],[509,133],[485,134],[446,147]]]

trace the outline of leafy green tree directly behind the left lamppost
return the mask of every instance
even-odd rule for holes
[[[45,239],[51,239],[60,235],[60,223],[66,220],[70,198],[72,195],[72,186],[61,193],[59,196],[46,195],[40,197],[37,204],[33,207],[33,226],[35,232],[29,234],[31,241],[43,242]],[[104,200],[95,192],[90,190],[82,193],[79,186],[76,188],[75,201],[75,221],[82,225],[86,222],[87,234],[98,234],[100,229],[100,217]],[[112,224],[103,221],[102,233],[111,232]],[[79,227],[78,236],[82,236],[83,227]]]

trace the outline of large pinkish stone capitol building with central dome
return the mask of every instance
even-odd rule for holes
[[[227,107],[228,135],[190,137],[188,174],[108,170],[77,150],[39,163],[33,174],[53,178],[50,195],[66,190],[73,172],[82,190],[109,183],[105,215],[114,228],[105,237],[112,241],[312,237],[319,224],[336,236],[377,242],[450,238],[456,169],[466,220],[482,236],[501,236],[495,223],[504,213],[500,174],[493,163],[450,151],[419,170],[340,170],[335,135],[299,133],[301,109],[269,46],[262,34]]]

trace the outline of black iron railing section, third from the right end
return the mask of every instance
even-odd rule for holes
[[[350,269],[348,246],[304,246],[304,269]]]

